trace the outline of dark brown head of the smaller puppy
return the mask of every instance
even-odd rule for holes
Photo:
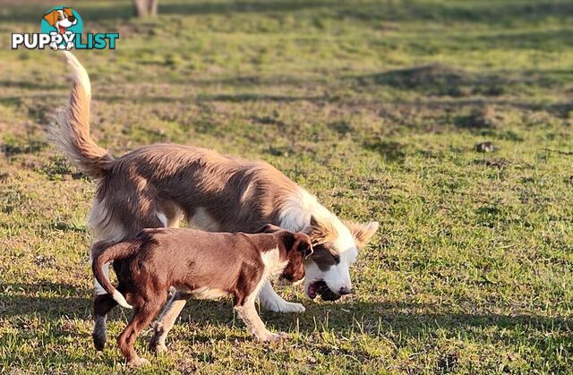
[[[307,234],[293,233],[271,224],[263,226],[261,232],[276,234],[279,252],[286,256],[286,267],[279,277],[279,283],[301,281],[304,278],[304,260],[312,255],[311,238]]]

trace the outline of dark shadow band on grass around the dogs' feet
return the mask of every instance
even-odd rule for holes
[[[57,320],[62,315],[88,319],[91,315],[91,292],[76,286],[42,282],[39,284],[0,284],[3,291],[0,315],[4,318],[40,315],[44,320]],[[40,294],[30,296],[29,294]],[[45,294],[45,295],[41,295]],[[540,331],[571,332],[571,317],[549,317],[537,314],[499,314],[450,311],[447,307],[423,303],[366,303],[338,301],[313,303],[302,301],[307,308],[304,314],[283,314],[261,311],[261,319],[276,330],[302,333],[333,330],[347,334],[350,330],[372,337],[382,337],[387,332],[399,332],[406,337],[417,337],[422,332],[446,329],[450,332],[470,331],[473,328],[537,329]],[[109,320],[125,320],[131,311],[115,308]],[[199,328],[207,325],[228,326],[238,320],[228,299],[218,301],[190,300],[182,311],[177,324],[191,324]],[[242,326],[242,323],[239,323]],[[244,337],[213,337],[198,335],[194,341],[212,339],[237,339]]]

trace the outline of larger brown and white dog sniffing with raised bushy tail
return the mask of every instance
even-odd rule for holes
[[[98,180],[88,217],[96,241],[133,238],[146,227],[176,227],[184,217],[211,232],[252,233],[272,223],[311,237],[314,252],[304,262],[309,297],[320,294],[333,301],[352,292],[349,268],[378,229],[377,222],[344,224],[273,166],[210,149],[154,144],[113,158],[90,138],[88,73],[71,53],[64,54],[73,67],[74,83],[51,138],[75,166]],[[96,293],[94,342],[102,347],[106,314],[116,303],[98,284]],[[280,298],[269,281],[259,296],[271,311],[304,311],[302,304]],[[167,319],[175,320],[184,303],[185,294],[176,293],[156,328],[172,324]]]

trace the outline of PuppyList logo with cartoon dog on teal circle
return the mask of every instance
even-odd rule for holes
[[[117,32],[83,34],[80,13],[67,6],[56,6],[42,17],[39,33],[13,33],[12,49],[115,49],[117,39]]]

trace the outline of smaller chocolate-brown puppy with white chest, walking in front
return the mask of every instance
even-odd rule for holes
[[[308,235],[276,226],[264,226],[262,231],[266,233],[144,229],[133,240],[111,245],[95,243],[94,276],[117,303],[134,307],[132,320],[117,338],[127,361],[134,365],[147,362],[137,355],[133,345],[141,329],[150,324],[166,302],[170,286],[203,299],[231,294],[235,311],[259,341],[285,337],[265,328],[255,300],[271,274],[282,271],[295,281],[302,279],[303,261],[311,255],[312,244]],[[104,276],[103,266],[110,260],[114,260],[119,280],[117,289]],[[154,339],[165,345],[165,337]]]

